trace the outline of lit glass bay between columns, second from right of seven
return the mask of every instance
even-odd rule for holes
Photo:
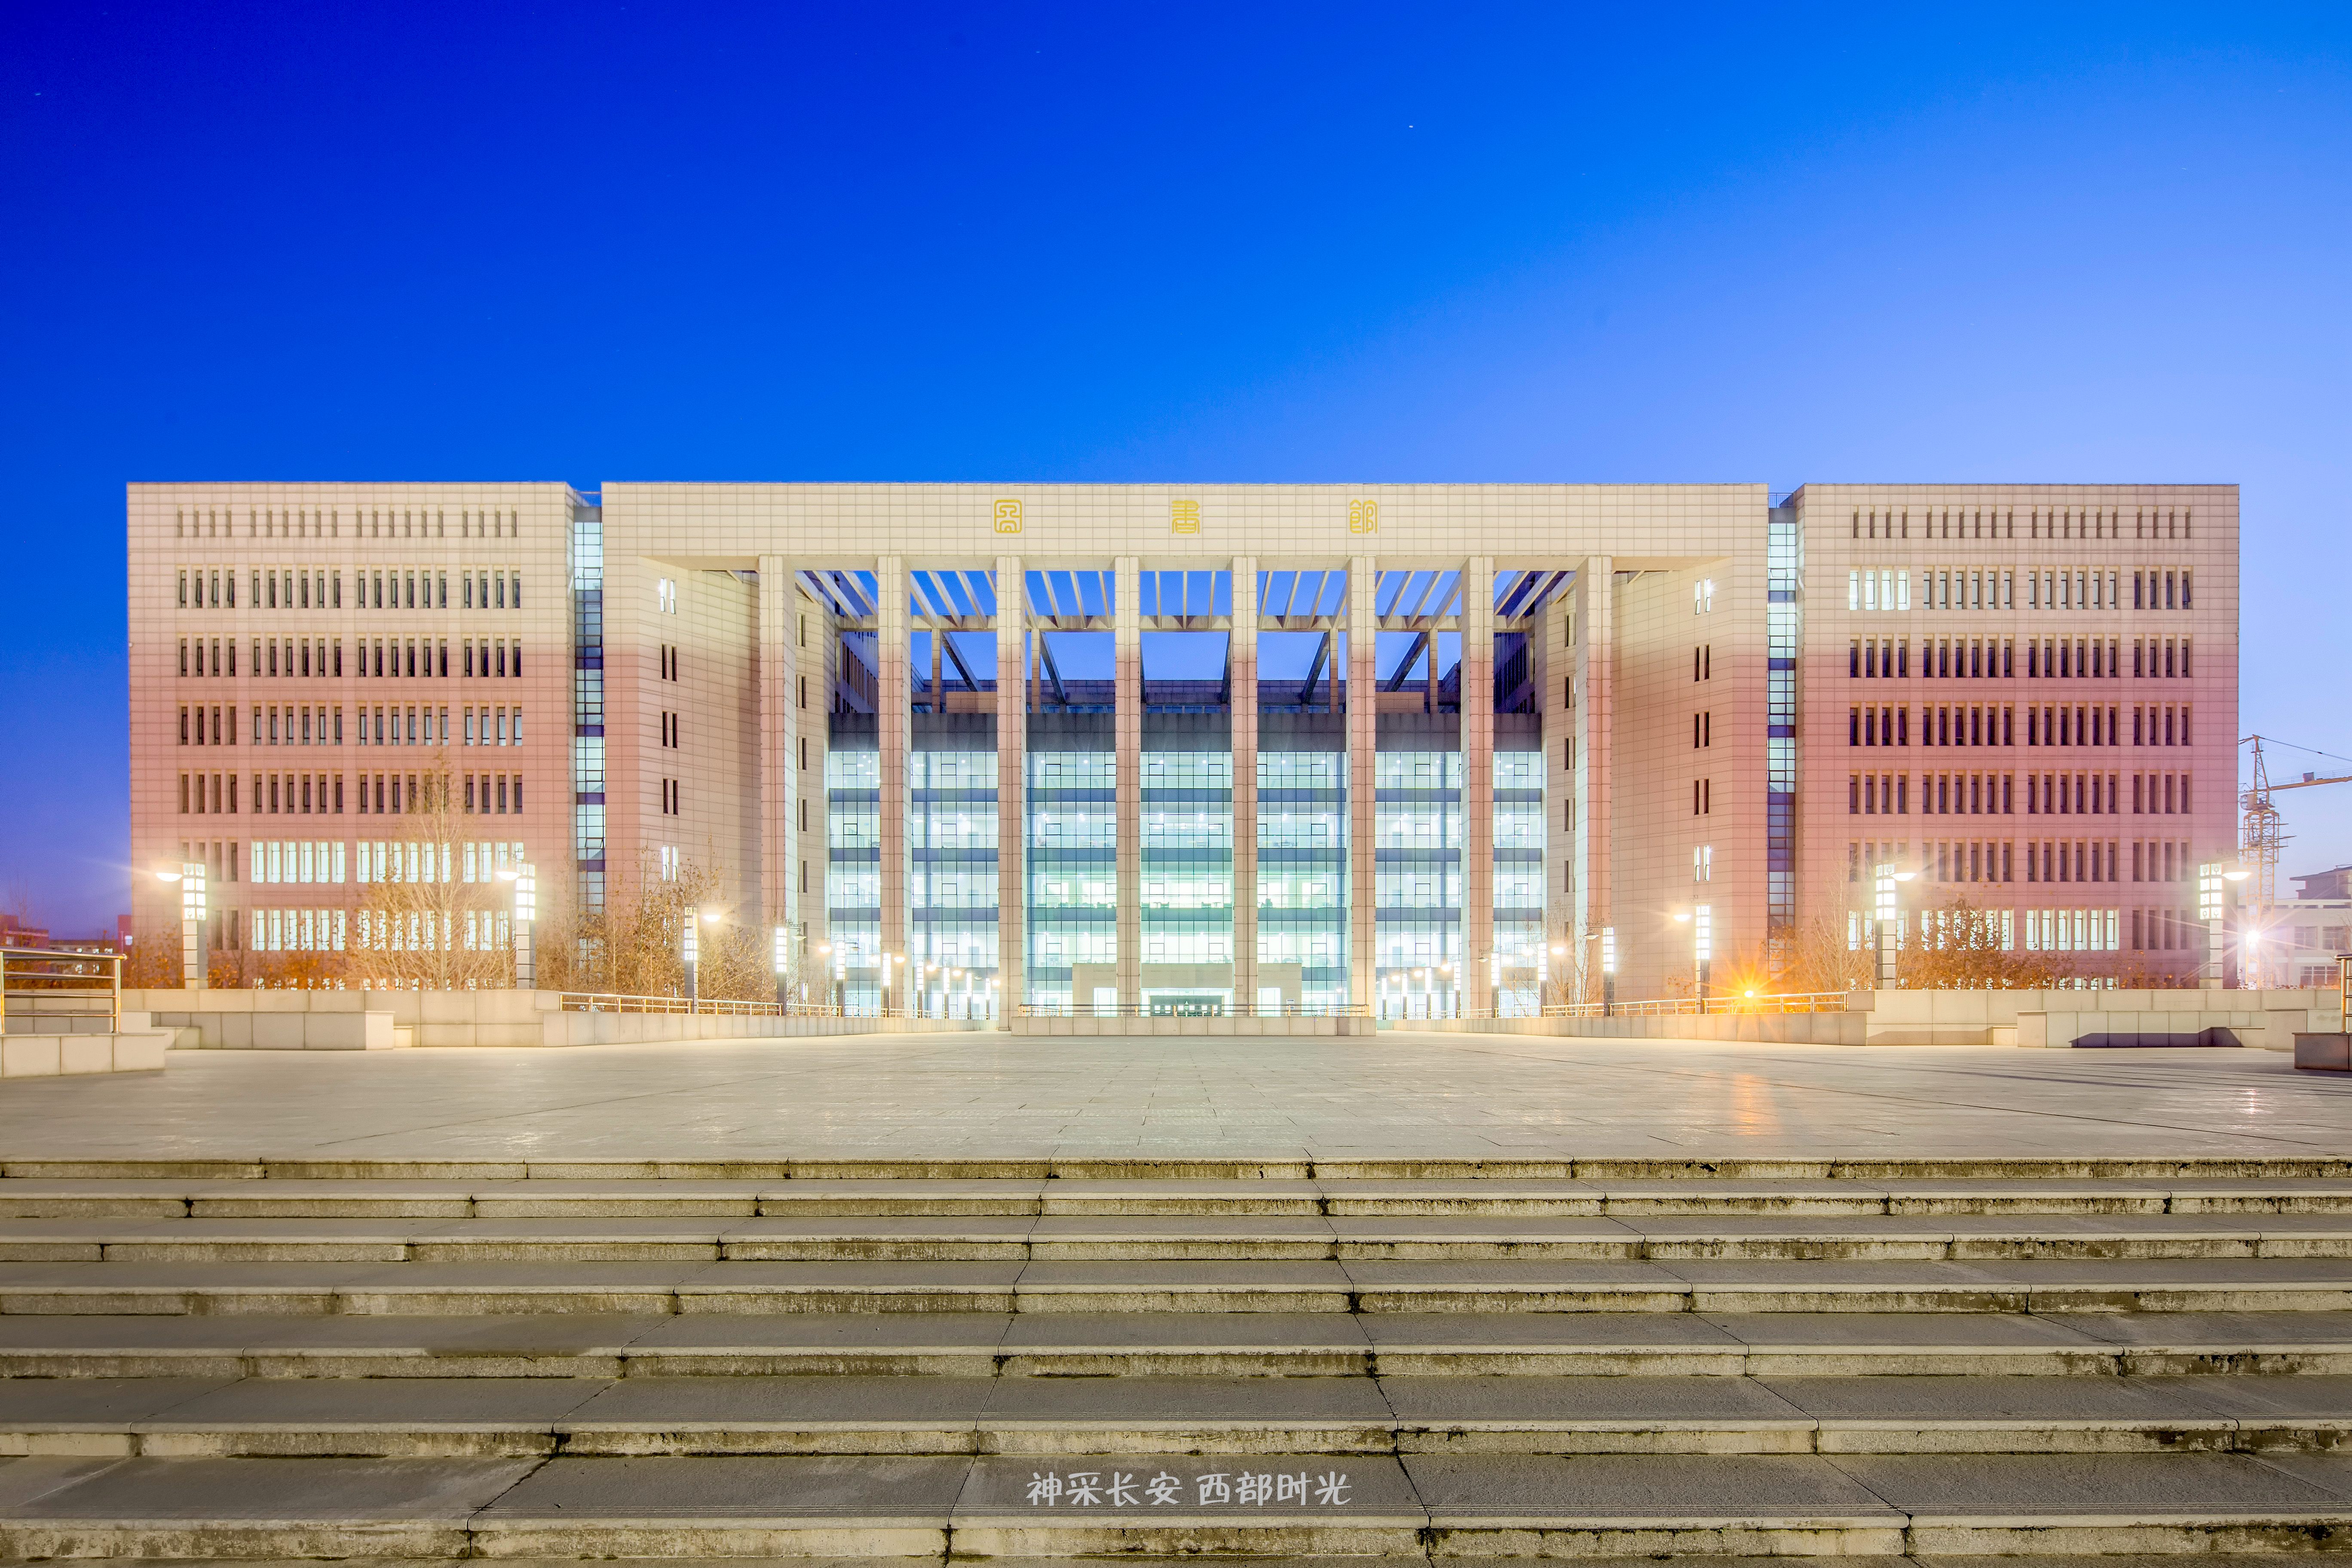
[[[1463,755],[1374,762],[1374,1004],[1390,1018],[1458,1011],[1463,945]]]

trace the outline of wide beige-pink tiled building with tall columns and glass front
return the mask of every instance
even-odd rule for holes
[[[2234,842],[2234,487],[141,484],[129,559],[134,865],[205,858],[228,947],[332,943],[430,769],[492,780],[480,842],[546,891],[710,863],[790,985],[882,999],[908,954],[941,969],[889,999],[931,1006],[1515,1009],[1604,945],[1646,997],[1700,931],[1722,973],[1844,929],[1872,858],[2084,973],[2190,971]],[[969,679],[917,665],[934,625]],[[1223,679],[1155,675],[1169,630]],[[1329,637],[1312,686],[1256,677],[1282,632]],[[1435,684],[1423,635],[1465,649]]]

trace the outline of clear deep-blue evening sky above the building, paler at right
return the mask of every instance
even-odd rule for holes
[[[132,480],[2237,482],[2352,755],[2347,259],[2340,5],[19,0],[0,905],[127,907]]]

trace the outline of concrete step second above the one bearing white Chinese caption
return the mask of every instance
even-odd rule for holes
[[[5,1378],[2352,1373],[2352,1312],[0,1316]]]

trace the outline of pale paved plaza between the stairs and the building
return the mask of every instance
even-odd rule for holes
[[[2270,1051],[913,1034],[181,1051],[0,1091],[7,1159],[2347,1152],[2352,1081]]]

